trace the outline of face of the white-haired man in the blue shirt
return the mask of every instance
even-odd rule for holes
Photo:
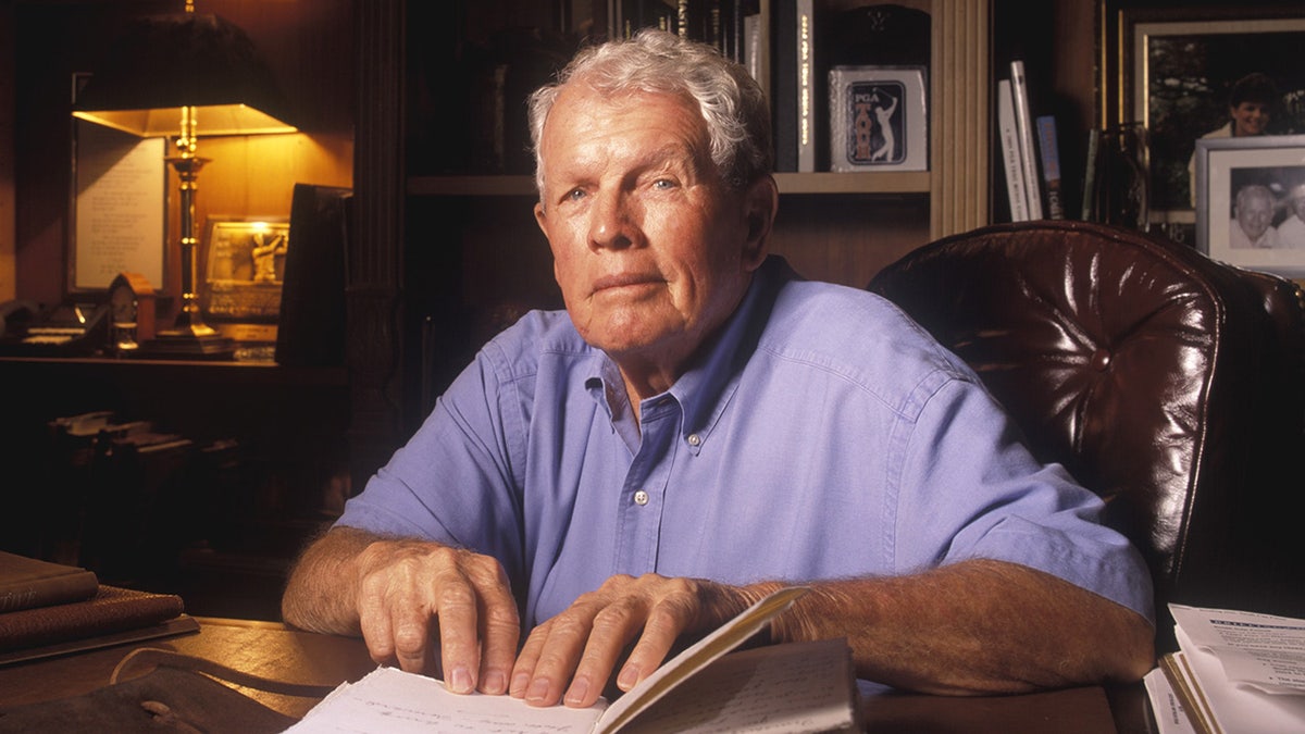
[[[539,152],[535,217],[581,336],[619,363],[686,359],[733,312],[762,259],[746,197],[720,180],[697,107],[573,84]]]

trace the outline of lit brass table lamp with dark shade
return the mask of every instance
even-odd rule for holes
[[[221,359],[234,343],[204,323],[196,295],[196,180],[207,158],[200,136],[296,132],[253,42],[234,24],[194,12],[146,16],[116,39],[78,93],[73,116],[141,137],[172,138],[167,162],[180,182],[181,308],[142,357]]]

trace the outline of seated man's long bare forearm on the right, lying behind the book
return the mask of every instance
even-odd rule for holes
[[[847,636],[859,677],[934,694],[1137,680],[1155,654],[1154,630],[1131,610],[992,560],[817,582],[773,633],[780,641]]]

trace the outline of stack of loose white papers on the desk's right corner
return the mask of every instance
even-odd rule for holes
[[[1169,605],[1180,650],[1146,677],[1160,734],[1305,733],[1305,620]]]

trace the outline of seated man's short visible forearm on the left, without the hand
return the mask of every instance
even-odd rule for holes
[[[358,635],[358,573],[352,564],[377,535],[335,528],[313,541],[295,563],[281,599],[287,624],[313,632]]]

